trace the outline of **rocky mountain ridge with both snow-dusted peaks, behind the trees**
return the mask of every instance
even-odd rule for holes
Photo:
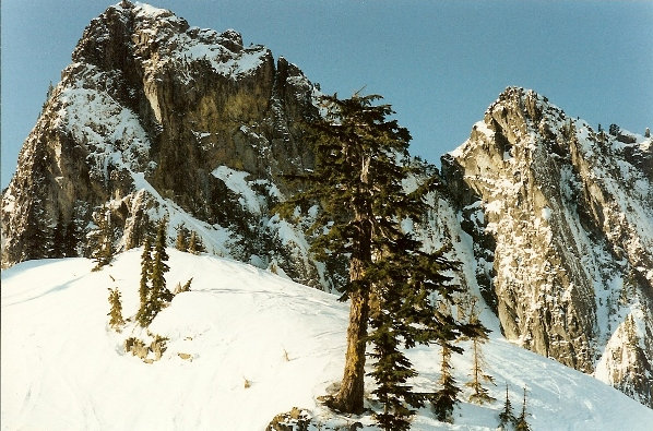
[[[285,175],[313,166],[302,124],[320,115],[319,95],[235,31],[142,3],[108,8],[3,191],[2,267],[90,256],[103,224],[128,251],[167,215],[169,243],[182,228],[209,254],[331,291],[343,262],[317,262],[310,220],[273,212],[296,191]],[[598,133],[508,88],[441,172],[424,164],[406,188],[439,179],[420,235],[427,248],[451,246],[456,282],[483,298],[497,332],[653,407],[653,148],[617,129]]]

